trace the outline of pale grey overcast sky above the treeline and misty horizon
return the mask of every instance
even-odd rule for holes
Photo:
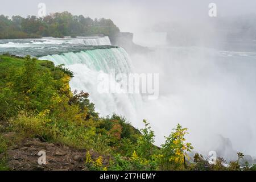
[[[110,18],[121,31],[135,31],[156,22],[191,19],[208,15],[208,5],[217,4],[217,15],[233,16],[255,12],[255,0],[0,0],[0,14],[37,15],[38,4],[46,4],[47,13],[69,11],[91,18]]]

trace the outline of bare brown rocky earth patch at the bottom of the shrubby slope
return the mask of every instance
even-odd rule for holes
[[[39,165],[39,151],[46,152],[46,165]],[[97,158],[97,154],[92,158]],[[75,150],[62,144],[42,142],[40,139],[27,139],[18,146],[12,146],[7,151],[8,166],[18,171],[82,171],[85,167],[86,150]]]

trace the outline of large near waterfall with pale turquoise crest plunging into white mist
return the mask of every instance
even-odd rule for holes
[[[123,48],[95,49],[81,52],[68,52],[60,55],[48,55],[40,60],[51,60],[55,65],[65,64],[74,73],[70,85],[72,90],[83,90],[90,94],[96,111],[102,116],[121,114],[129,121],[136,119],[136,113],[142,102],[140,94],[99,93],[98,76],[110,75],[111,69],[116,73],[132,73],[133,65]],[[118,84],[114,78],[110,82]]]

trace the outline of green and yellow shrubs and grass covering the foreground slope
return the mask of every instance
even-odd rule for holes
[[[51,61],[1,55],[0,68],[0,169],[9,169],[7,148],[33,138],[86,150],[84,166],[91,170],[241,169],[240,153],[229,167],[223,159],[209,164],[199,154],[189,159],[193,147],[185,141],[188,129],[180,125],[156,147],[147,121],[143,121],[144,129],[137,130],[118,115],[99,117],[88,93],[71,92],[73,73]],[[6,138],[8,132],[15,137]],[[97,158],[92,151],[98,153]]]

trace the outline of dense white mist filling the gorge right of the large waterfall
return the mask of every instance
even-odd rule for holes
[[[139,61],[138,72],[160,73],[159,100],[147,101],[141,110],[156,129],[156,143],[181,123],[197,151],[225,152],[226,146],[219,148],[224,137],[233,144],[226,159],[234,159],[234,151],[255,155],[255,58],[245,56],[247,63],[240,63],[242,58],[221,58],[214,49],[176,47],[132,59]]]

